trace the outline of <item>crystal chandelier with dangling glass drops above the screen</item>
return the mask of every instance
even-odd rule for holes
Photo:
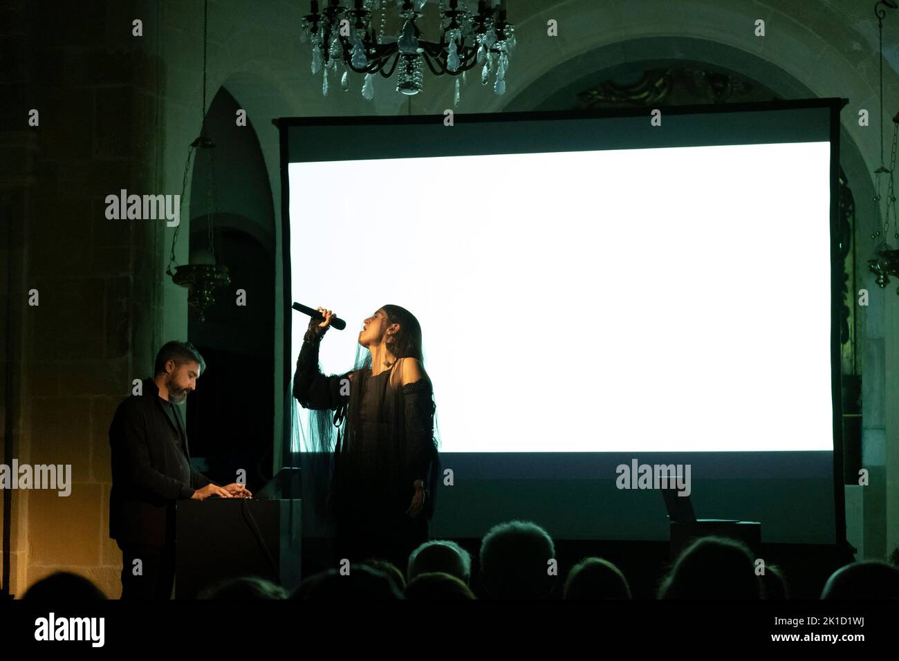
[[[515,46],[515,32],[506,22],[505,0],[479,0],[477,13],[468,10],[465,0],[431,0],[438,5],[440,42],[425,41],[415,24],[422,18],[428,0],[352,0],[352,9],[341,0],[325,0],[319,12],[312,0],[311,13],[301,19],[303,36],[312,44],[312,74],[322,72],[322,94],[328,94],[328,77],[340,75],[341,88],[350,89],[351,71],[364,74],[362,96],[374,97],[372,78],[397,75],[396,91],[418,94],[423,89],[424,67],[434,76],[456,78],[454,104],[460,98],[459,78],[481,67],[481,84],[491,77],[494,92],[505,94],[509,53]],[[402,22],[398,36],[385,37],[388,5],[396,4]],[[489,6],[488,6],[489,5]],[[379,28],[375,22],[379,20]]]

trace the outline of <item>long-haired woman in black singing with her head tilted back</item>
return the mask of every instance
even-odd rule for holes
[[[335,525],[337,557],[383,558],[405,569],[409,553],[428,539],[440,476],[422,328],[405,308],[378,308],[360,331],[356,367],[325,376],[318,346],[334,314],[318,310],[325,321],[309,322],[293,396],[313,412],[335,411],[333,419],[310,415],[310,432],[314,449],[334,451],[327,517]]]

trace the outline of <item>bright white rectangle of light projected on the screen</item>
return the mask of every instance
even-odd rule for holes
[[[292,297],[347,320],[326,374],[418,317],[443,452],[831,450],[830,150],[292,163]]]

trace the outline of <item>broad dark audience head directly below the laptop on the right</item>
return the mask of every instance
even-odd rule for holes
[[[659,599],[761,599],[761,581],[743,542],[704,537],[677,558]]]

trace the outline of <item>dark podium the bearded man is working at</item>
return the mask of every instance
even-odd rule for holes
[[[299,499],[207,498],[175,507],[175,598],[227,578],[260,576],[291,592],[300,582]]]

